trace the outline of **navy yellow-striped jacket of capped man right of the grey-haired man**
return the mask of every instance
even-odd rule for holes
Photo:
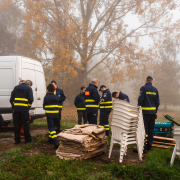
[[[104,101],[100,102],[100,110],[101,111],[111,111],[112,110],[112,97],[109,89],[106,89],[102,94],[102,99]]]

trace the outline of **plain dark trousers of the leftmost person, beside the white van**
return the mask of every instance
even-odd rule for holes
[[[14,111],[14,137],[15,142],[20,142],[21,126],[24,126],[25,142],[31,142],[31,135],[29,133],[29,112],[28,111]]]

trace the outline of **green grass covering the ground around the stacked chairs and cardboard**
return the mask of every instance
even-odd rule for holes
[[[71,128],[75,124],[76,120],[63,119],[62,129]],[[46,118],[38,119],[32,125],[47,126]],[[35,136],[33,143],[1,153],[0,180],[180,179],[180,158],[176,157],[173,166],[170,166],[173,149],[153,148],[153,151],[146,155],[145,163],[140,165],[98,164],[92,160],[65,161],[42,152],[28,154],[29,150],[42,147],[47,137],[47,134]]]

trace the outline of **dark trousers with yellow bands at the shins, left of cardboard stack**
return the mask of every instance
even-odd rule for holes
[[[55,131],[54,123],[57,121],[57,118],[47,118],[48,129],[49,129],[49,142],[58,144],[57,134]]]

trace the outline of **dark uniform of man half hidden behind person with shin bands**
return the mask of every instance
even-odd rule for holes
[[[66,100],[66,96],[63,92],[62,89],[57,88],[56,89],[56,96],[58,97],[58,108],[59,108],[59,117],[57,118],[56,122],[55,122],[55,126],[57,128],[57,133],[60,132],[60,127],[61,127],[61,111],[62,111],[62,107],[63,107],[63,101]]]

